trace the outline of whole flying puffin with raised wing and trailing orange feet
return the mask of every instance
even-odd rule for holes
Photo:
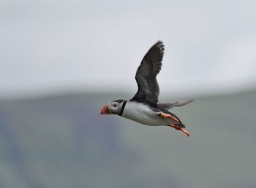
[[[138,91],[135,96],[129,100],[118,99],[106,104],[102,107],[100,114],[116,114],[143,125],[168,126],[181,130],[187,136],[190,136],[181,120],[169,110],[174,107],[184,106],[193,100],[158,103],[159,85],[157,83],[157,74],[162,68],[164,51],[163,42],[156,42],[146,52],[137,69],[135,79]]]

